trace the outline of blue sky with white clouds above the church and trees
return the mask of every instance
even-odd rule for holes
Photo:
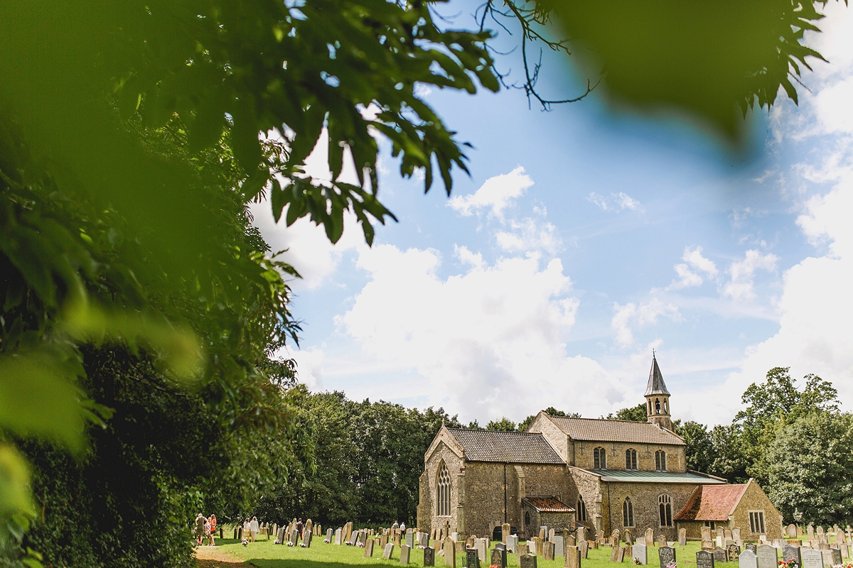
[[[384,156],[380,198],[399,222],[372,249],[352,225],[332,246],[259,205],[305,277],[288,352],[300,380],[481,424],[552,405],[602,416],[642,401],[654,348],[676,417],[728,422],[776,365],[827,378],[849,407],[853,19],[828,10],[809,42],[830,63],[800,106],[751,117],[747,152],[597,95],[542,112],[520,90],[425,89],[474,146],[452,198]],[[571,76],[551,63],[549,77]],[[562,80],[543,89],[577,89]]]

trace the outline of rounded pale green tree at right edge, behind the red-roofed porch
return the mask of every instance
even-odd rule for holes
[[[768,496],[785,519],[833,525],[853,508],[853,416],[828,410],[778,427],[751,471],[766,479]]]

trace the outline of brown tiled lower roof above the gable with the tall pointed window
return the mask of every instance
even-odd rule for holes
[[[566,463],[541,433],[459,428],[448,431],[462,446],[468,462]]]

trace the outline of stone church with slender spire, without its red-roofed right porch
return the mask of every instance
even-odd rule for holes
[[[647,422],[540,412],[526,432],[442,427],[424,456],[418,528],[490,536],[508,523],[527,537],[540,525],[608,536],[651,528],[677,540],[676,514],[694,491],[726,480],[688,471],[654,357],[645,397]]]

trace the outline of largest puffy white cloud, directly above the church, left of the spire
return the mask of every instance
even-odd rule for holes
[[[378,364],[424,379],[398,382],[383,397],[421,397],[481,422],[519,420],[543,400],[598,416],[624,399],[601,365],[566,353],[578,301],[559,259],[487,265],[465,247],[456,255],[467,269],[444,278],[435,250],[360,250],[358,266],[370,281],[338,318],[339,329]]]

